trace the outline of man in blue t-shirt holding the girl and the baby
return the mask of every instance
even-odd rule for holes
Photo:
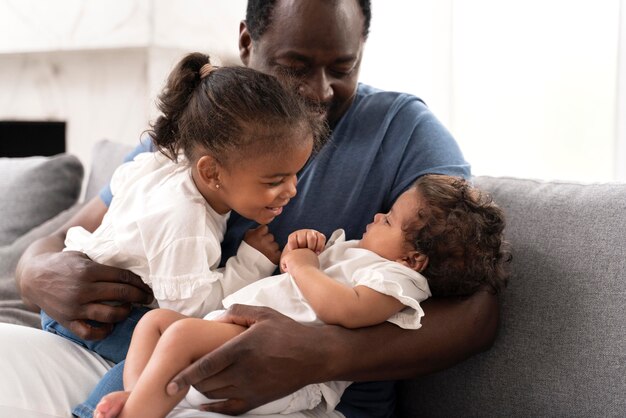
[[[249,1],[240,26],[243,63],[295,78],[301,94],[332,129],[329,143],[300,174],[298,196],[270,224],[281,244],[290,232],[304,227],[327,235],[341,227],[348,239],[358,238],[373,214],[388,210],[420,175],[469,176],[458,146],[423,103],[357,84],[369,21],[368,1]],[[93,230],[99,225],[106,199],[88,202],[54,236],[31,246],[18,266],[25,302],[43,308],[85,338],[105,336],[110,324],[127,315],[128,303],[151,300],[149,290],[131,273],[97,265],[81,254],[59,252],[67,228],[82,225]],[[248,221],[232,217],[225,257],[249,227]],[[101,300],[125,304],[113,307]],[[209,410],[241,413],[313,382],[393,380],[440,370],[493,341],[498,308],[496,297],[488,292],[462,301],[429,299],[423,308],[422,328],[406,331],[391,324],[359,330],[305,327],[269,309],[236,306],[228,320],[249,330],[191,365],[174,382],[179,387],[192,384],[210,398],[226,399]],[[96,328],[86,320],[109,325]],[[25,333],[7,340],[0,329],[0,338],[3,344],[25,344],[28,339],[35,347],[54,345],[49,352],[42,347],[25,354],[37,355],[44,363],[46,356],[58,355],[51,353],[59,347],[71,345],[55,336],[42,337],[36,330]],[[93,386],[108,365],[76,351],[77,359],[63,370],[50,371],[60,375],[57,379],[65,387],[50,388],[49,380],[24,383],[32,397],[49,393],[45,396],[62,397],[70,405],[84,400],[91,387],[73,388],[68,382],[80,379],[83,386]],[[348,417],[387,416],[392,404],[391,384],[355,383],[338,410]]]

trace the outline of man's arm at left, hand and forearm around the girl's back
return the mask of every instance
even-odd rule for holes
[[[133,273],[104,266],[75,251],[63,252],[65,234],[72,226],[94,231],[107,206],[95,197],[53,234],[31,244],[17,265],[16,282],[24,303],[45,310],[76,335],[104,338],[111,324],[124,319],[130,303],[149,303],[150,289]],[[101,301],[119,301],[109,306]],[[106,324],[93,327],[86,320]]]

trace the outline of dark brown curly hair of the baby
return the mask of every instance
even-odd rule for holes
[[[435,296],[465,296],[506,286],[512,259],[503,238],[504,212],[491,196],[460,177],[429,174],[414,184],[418,219],[406,238],[428,265],[422,271]]]

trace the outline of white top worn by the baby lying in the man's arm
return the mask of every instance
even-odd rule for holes
[[[344,231],[336,230],[319,256],[320,269],[347,286],[367,286],[398,299],[406,307],[387,321],[406,329],[419,328],[424,316],[419,302],[430,296],[426,278],[358,244],[358,240],[346,241]],[[226,308],[235,303],[267,306],[300,323],[322,324],[288,273],[256,281],[223,301]]]

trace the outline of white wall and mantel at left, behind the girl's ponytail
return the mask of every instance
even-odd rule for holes
[[[245,4],[0,0],[0,119],[66,121],[67,149],[88,170],[94,142],[138,143],[185,52],[238,61]]]

